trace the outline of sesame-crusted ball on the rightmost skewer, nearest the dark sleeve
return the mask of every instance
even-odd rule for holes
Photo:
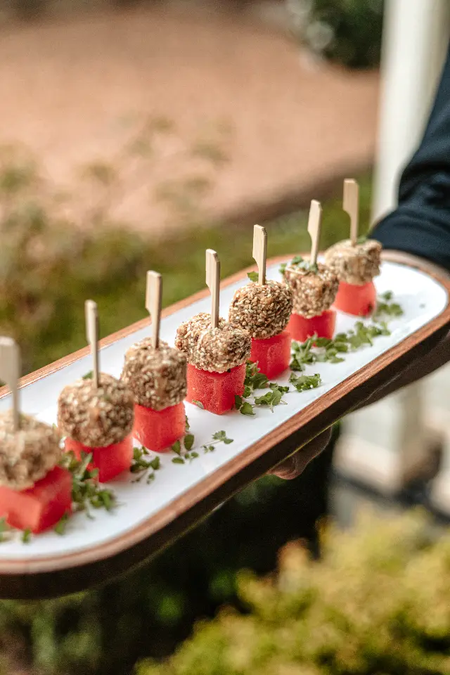
[[[380,274],[382,245],[375,239],[352,245],[349,239],[331,246],[325,262],[338,275],[340,281],[362,286]]]

